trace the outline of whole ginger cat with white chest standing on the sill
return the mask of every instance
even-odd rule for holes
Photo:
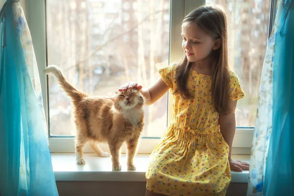
[[[98,142],[107,142],[112,155],[112,169],[121,170],[120,149],[127,144],[127,168],[135,170],[133,158],[144,127],[144,97],[140,92],[129,89],[118,92],[114,102],[103,97],[88,97],[77,91],[55,66],[45,73],[52,73],[63,90],[72,98],[76,125],[75,153],[77,164],[85,164],[83,148],[89,141],[90,147],[101,157],[109,156]]]

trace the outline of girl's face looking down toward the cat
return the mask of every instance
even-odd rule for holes
[[[182,25],[182,47],[189,62],[206,59],[213,49],[220,48],[220,40],[204,32],[196,23]]]

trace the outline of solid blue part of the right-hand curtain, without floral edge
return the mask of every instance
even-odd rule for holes
[[[273,57],[272,131],[266,196],[294,195],[294,0],[280,4]]]

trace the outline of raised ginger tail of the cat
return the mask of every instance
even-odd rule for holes
[[[52,73],[66,94],[70,96],[74,102],[79,102],[82,98],[88,97],[87,94],[81,93],[73,88],[73,86],[65,79],[58,67],[50,65],[44,70],[44,73]]]

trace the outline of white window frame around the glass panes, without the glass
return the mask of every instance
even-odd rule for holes
[[[276,1],[272,2],[272,10],[275,10]],[[23,0],[22,5],[25,10],[26,19],[31,31],[33,45],[35,49],[36,59],[41,80],[41,87],[43,93],[43,102],[45,107],[45,114],[48,120],[48,78],[43,73],[46,68],[46,16],[45,16],[46,0]],[[175,62],[182,57],[181,47],[181,23],[184,16],[187,15],[194,8],[205,4],[205,0],[171,0],[171,21],[170,21],[170,56],[169,61]],[[274,21],[274,12],[271,14],[271,21]],[[272,25],[272,23],[270,23]],[[168,123],[172,120],[172,95],[169,92],[168,96]],[[236,133],[233,141],[232,154],[250,154],[254,129],[240,127],[236,128]],[[150,153],[154,147],[159,143],[159,138],[146,137],[140,141],[138,153]],[[101,144],[102,149],[108,151],[106,144]],[[49,148],[51,152],[74,152],[74,138],[65,137],[50,137]],[[125,153],[126,147],[123,146],[122,152]],[[88,145],[86,145],[84,152],[93,152]]]

